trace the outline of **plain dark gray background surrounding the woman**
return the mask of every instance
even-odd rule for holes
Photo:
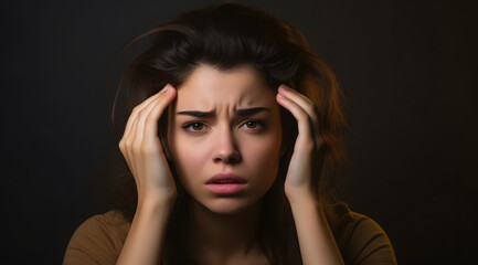
[[[108,210],[107,71],[129,41],[211,1],[2,1],[2,264],[59,264]],[[350,208],[401,264],[478,250],[476,1],[247,1],[296,23],[349,100]]]

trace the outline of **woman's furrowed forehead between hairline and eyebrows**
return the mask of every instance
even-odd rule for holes
[[[273,104],[275,94],[261,73],[249,65],[241,65],[227,71],[200,65],[178,87],[176,106],[181,110],[241,108],[256,104]]]

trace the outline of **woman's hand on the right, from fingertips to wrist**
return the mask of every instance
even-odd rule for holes
[[[298,135],[285,181],[289,200],[298,195],[312,195],[314,168],[323,142],[319,134],[318,107],[305,95],[280,85],[276,96],[278,104],[297,119]]]

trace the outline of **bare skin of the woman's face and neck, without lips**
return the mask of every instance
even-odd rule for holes
[[[255,225],[261,198],[277,176],[283,136],[275,95],[248,66],[220,72],[201,65],[178,87],[168,140],[179,179],[194,199],[189,231],[196,261],[227,264],[259,256]],[[262,110],[236,114],[252,108]],[[211,116],[182,114],[191,110]],[[204,183],[219,172],[233,172],[247,184],[235,195],[215,194]]]

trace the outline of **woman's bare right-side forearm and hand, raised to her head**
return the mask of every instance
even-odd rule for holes
[[[279,86],[277,103],[297,119],[298,135],[285,181],[285,192],[296,223],[304,265],[339,265],[342,256],[327,223],[326,215],[311,191],[316,151],[323,140],[319,134],[318,108],[306,96]],[[320,209],[320,210],[318,210]]]

